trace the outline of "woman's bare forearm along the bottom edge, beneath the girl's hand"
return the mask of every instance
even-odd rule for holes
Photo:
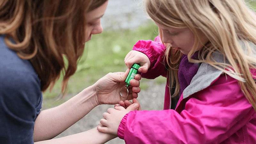
[[[116,138],[115,135],[102,133],[99,132],[97,128],[93,128],[86,132],[81,132],[52,140],[39,141],[36,142],[35,144],[101,144],[114,138]]]

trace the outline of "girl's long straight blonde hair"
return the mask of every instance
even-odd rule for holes
[[[148,15],[157,23],[172,28],[189,28],[195,43],[188,53],[190,62],[204,62],[238,80],[247,100],[256,110],[256,84],[250,69],[256,68],[256,24],[253,11],[242,0],[145,0]],[[209,39],[200,42],[199,32]],[[160,37],[162,30],[159,29]],[[199,48],[204,45],[203,48]],[[166,44],[173,96],[179,95],[178,68],[181,52]],[[198,51],[198,60],[191,56]],[[223,54],[224,61],[213,60],[212,54]]]

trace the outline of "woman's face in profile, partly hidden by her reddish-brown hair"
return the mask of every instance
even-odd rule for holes
[[[100,7],[88,12],[85,15],[87,19],[85,42],[88,42],[89,40],[91,40],[92,35],[102,33],[103,28],[101,26],[100,19],[104,15],[107,5],[108,5],[108,1],[106,1]]]

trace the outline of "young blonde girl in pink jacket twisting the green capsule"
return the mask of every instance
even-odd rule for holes
[[[256,25],[245,2],[145,4],[160,37],[139,41],[125,63],[140,63],[146,78],[167,76],[164,110],[108,109],[98,130],[131,144],[255,143]],[[169,93],[180,96],[175,110]]]

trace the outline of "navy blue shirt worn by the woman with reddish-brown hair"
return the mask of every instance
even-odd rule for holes
[[[40,80],[28,60],[7,48],[0,35],[0,144],[32,144],[42,108]]]

